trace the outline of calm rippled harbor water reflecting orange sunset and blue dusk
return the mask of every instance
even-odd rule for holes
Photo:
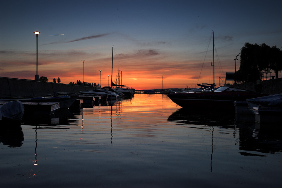
[[[135,94],[2,129],[0,186],[281,187],[281,138],[233,113]]]

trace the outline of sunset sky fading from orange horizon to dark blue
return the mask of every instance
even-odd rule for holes
[[[0,76],[34,79],[39,31],[38,75],[50,82],[82,81],[85,60],[84,81],[99,83],[101,70],[108,86],[114,46],[113,80],[119,68],[122,84],[135,89],[193,88],[213,83],[214,31],[218,85],[235,72],[245,42],[282,47],[281,7],[278,0],[2,1]]]

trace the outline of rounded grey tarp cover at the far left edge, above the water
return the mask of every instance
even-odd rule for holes
[[[7,102],[0,108],[0,119],[2,117],[21,120],[24,113],[23,103],[20,101]]]

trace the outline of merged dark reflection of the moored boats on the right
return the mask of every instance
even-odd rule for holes
[[[266,156],[261,153],[282,151],[282,127],[276,124],[258,124],[256,122],[236,122],[234,114],[226,111],[188,110],[181,108],[172,113],[168,121],[187,124],[187,128],[203,129],[219,127],[220,129],[234,129],[234,138],[239,138],[239,149],[242,155]],[[238,135],[237,135],[238,134]],[[239,136],[239,137],[238,137]],[[255,152],[255,153],[252,153]]]

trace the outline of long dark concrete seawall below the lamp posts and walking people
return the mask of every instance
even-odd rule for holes
[[[93,89],[94,87],[89,86],[0,77],[0,97],[45,96],[55,92],[78,93]]]

